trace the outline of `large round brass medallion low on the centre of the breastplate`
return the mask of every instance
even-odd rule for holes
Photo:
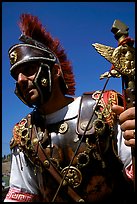
[[[82,181],[82,174],[74,166],[67,166],[62,171],[61,174],[65,175],[65,183],[69,183],[73,188],[77,188]]]

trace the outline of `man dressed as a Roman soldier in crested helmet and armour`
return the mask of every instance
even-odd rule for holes
[[[37,16],[23,13],[9,49],[15,94],[32,108],[10,141],[4,202],[132,202],[135,107],[114,90],[75,96],[71,62]]]

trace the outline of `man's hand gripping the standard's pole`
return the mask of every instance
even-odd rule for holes
[[[124,110],[124,107],[113,105],[112,111],[119,116],[119,124],[123,131],[125,145],[135,146],[135,107]]]

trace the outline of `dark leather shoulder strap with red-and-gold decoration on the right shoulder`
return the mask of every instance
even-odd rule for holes
[[[92,134],[96,118],[104,119],[110,126],[114,125],[116,114],[112,105],[122,105],[123,98],[114,90],[85,92],[81,97],[76,132],[80,135]]]

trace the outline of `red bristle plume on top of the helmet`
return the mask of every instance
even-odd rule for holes
[[[75,94],[75,80],[72,72],[71,62],[67,59],[67,55],[62,48],[60,41],[54,39],[51,34],[43,27],[42,23],[37,16],[23,13],[20,16],[19,27],[22,34],[31,37],[46,45],[57,56],[61,69],[63,72],[65,83],[68,86],[66,94]]]

